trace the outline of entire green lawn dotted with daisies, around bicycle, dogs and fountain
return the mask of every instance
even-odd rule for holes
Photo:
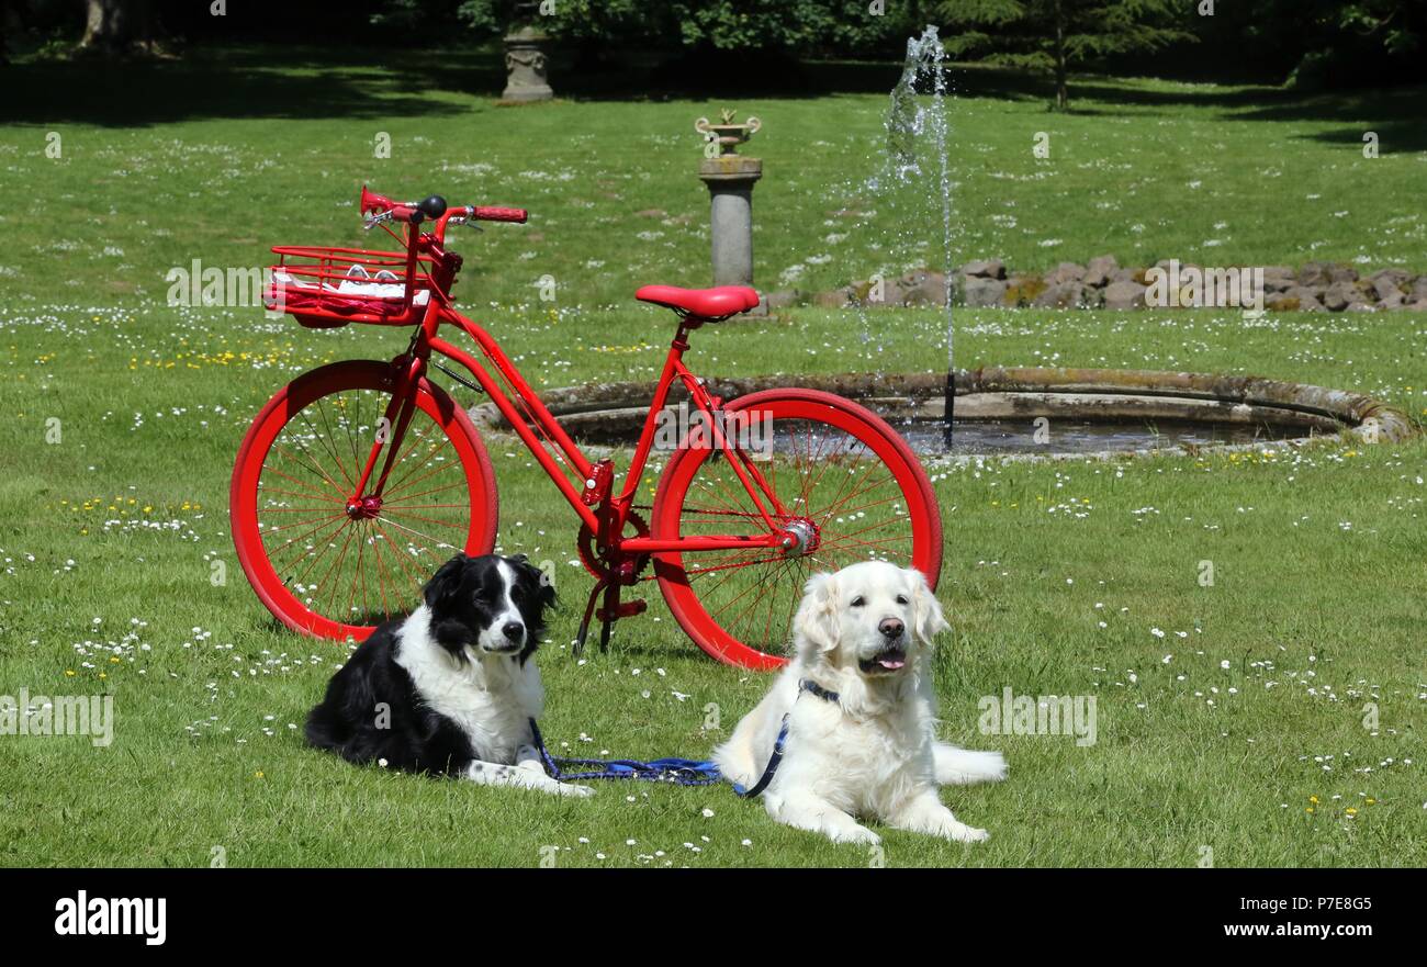
[[[20,84],[49,70],[67,68]],[[328,359],[388,358],[404,334],[308,332],[257,309],[163,304],[163,272],[193,258],[260,264],[273,242],[355,241],[348,203],[362,180],[394,194],[445,190],[541,213],[462,248],[468,302],[502,304],[472,314],[532,382],[652,377],[668,319],[629,308],[628,294],[641,281],[702,280],[705,198],[689,121],[706,106],[511,111],[455,91],[402,94],[375,68],[328,78],[337,68],[324,66],[342,93],[324,117],[260,97],[281,91],[281,78],[301,88],[315,66],[277,76],[251,64],[227,93],[186,64],[140,81],[157,90],[163,70],[191,81],[170,84],[181,110],[146,101],[140,86],[108,101],[130,106],[124,126],[54,100],[53,114],[0,131],[0,211],[17,245],[0,257],[10,297],[0,307],[0,409],[10,414],[0,429],[0,693],[108,693],[117,713],[104,749],[0,737],[0,863],[204,866],[221,849],[230,866],[534,866],[548,847],[561,866],[872,861],[776,826],[723,787],[606,783],[594,799],[555,800],[354,769],[307,749],[303,719],[345,650],[278,626],[244,582],[228,474],[247,424],[285,379]],[[193,88],[205,78],[213,101],[201,108]],[[1012,97],[958,101],[960,217],[976,254],[1036,265],[1099,251],[1122,262],[1194,258],[1222,237],[1210,251],[1224,262],[1427,261],[1411,203],[1421,145],[1393,151],[1384,137],[1383,157],[1366,161],[1340,137],[1390,103],[1127,90],[1133,107],[1104,90],[1107,100],[1087,98],[1069,117]],[[742,106],[768,124],[759,272],[831,254],[805,280],[868,274],[870,242],[825,247],[836,232],[823,222],[843,207],[838,185],[856,174],[853,147],[875,141],[882,106],[873,96]],[[184,118],[190,110],[198,116]],[[1401,121],[1408,108],[1393,110]],[[1331,120],[1307,120],[1319,114]],[[1063,131],[1053,144],[1065,150],[1049,165],[1029,150],[1047,126]],[[63,134],[60,161],[43,157],[47,130]],[[377,130],[394,135],[390,161],[370,158]],[[1090,185],[1107,194],[1076,197]],[[1005,208],[1015,225],[990,220],[1003,198],[1017,203]],[[666,214],[634,214],[651,208]],[[665,224],[679,217],[688,221]],[[645,230],[662,237],[636,245]],[[1063,241],[1040,247],[1046,238]],[[522,260],[527,251],[535,257]],[[554,312],[521,305],[544,272],[569,280]],[[935,312],[798,309],[705,328],[689,362],[706,375],[796,382],[802,372],[936,369],[942,339]],[[1406,312],[1246,321],[986,309],[959,314],[958,361],[1251,372],[1374,394],[1421,421],[1424,345],[1427,317]],[[60,439],[46,442],[56,426]],[[571,754],[706,754],[768,679],[706,659],[656,593],[646,616],[619,625],[608,655],[572,659],[565,643],[589,588],[571,563],[572,516],[518,445],[488,445],[501,548],[558,562],[565,605],[541,653],[547,739]],[[946,528],[939,596],[955,628],[936,659],[940,735],[1003,752],[1010,777],[943,793],[960,819],[990,830],[989,843],[880,830],[889,866],[1193,866],[1204,847],[1217,866],[1427,861],[1427,442],[929,461],[928,471]],[[1203,561],[1213,586],[1199,583]],[[213,583],[214,562],[225,583]],[[1097,742],[980,735],[977,700],[1006,687],[1095,696]]]

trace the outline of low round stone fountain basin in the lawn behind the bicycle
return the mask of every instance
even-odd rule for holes
[[[723,399],[789,385],[855,399],[885,416],[915,444],[939,439],[933,431],[945,416],[945,374],[772,374],[708,379],[712,392]],[[541,398],[577,439],[634,445],[652,392],[652,382],[594,382],[542,391]],[[686,398],[682,385],[676,385],[671,392],[671,405],[678,406]],[[509,432],[494,404],[481,404],[472,408],[471,415],[485,431]],[[1301,442],[1343,434],[1353,434],[1366,442],[1391,442],[1414,434],[1407,416],[1363,394],[1257,377],[1143,369],[997,367],[959,371],[953,415],[956,426],[979,421],[1025,425],[1045,416],[1062,425],[1142,428],[1139,436],[1113,435],[1109,451],[1095,449],[1097,444],[1090,435],[1073,454],[1047,451],[1040,454],[1045,456],[1187,449],[1159,441],[1142,445],[1150,439],[1143,428],[1160,424],[1263,428],[1261,442]],[[1241,432],[1239,435],[1243,436]],[[1220,446],[1232,449],[1243,445]]]

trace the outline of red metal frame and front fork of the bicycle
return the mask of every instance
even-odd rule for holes
[[[659,375],[654,398],[649,404],[649,412],[639,434],[634,461],[629,464],[622,486],[615,493],[614,471],[609,461],[591,462],[559,425],[554,414],[541,402],[538,394],[525,381],[509,357],[505,355],[499,344],[484,328],[451,307],[447,292],[454,281],[455,271],[459,268],[459,255],[444,251],[445,222],[447,217],[442,217],[437,224],[435,232],[418,234],[415,228],[410,230],[408,248],[411,257],[415,257],[418,247],[430,251],[434,257],[435,268],[432,278],[437,282],[435,298],[427,305],[421,327],[412,335],[407,352],[394,361],[400,367],[400,372],[392,388],[392,398],[387,404],[385,422],[381,424],[390,432],[385,438],[382,434],[378,434],[378,439],[372,444],[365,466],[357,481],[355,492],[350,498],[350,506],[360,506],[368,501],[377,501],[380,505],[382,486],[385,486],[387,475],[392,468],[395,456],[401,452],[401,444],[414,412],[412,388],[427,374],[431,352],[435,351],[447,359],[459,364],[475,378],[477,384],[509,422],[531,455],[535,456],[541,468],[549,475],[565,501],[574,508],[581,522],[596,536],[596,545],[602,555],[609,555],[615,559],[628,559],[658,552],[736,551],[745,548],[786,549],[795,546],[796,536],[778,522],[779,519],[789,518],[786,508],[768,485],[762,472],[755,466],[752,458],[741,448],[728,444],[719,425],[721,421],[716,418],[722,401],[711,394],[699,378],[684,365],[684,352],[689,348],[688,334],[699,328],[704,319],[688,317],[679,319],[678,332],[669,344],[669,354],[665,358],[664,371]],[[454,325],[471,337],[495,375],[472,354],[441,338],[438,331],[442,322]],[[652,536],[624,536],[624,528],[634,508],[639,481],[644,476],[649,452],[654,448],[659,414],[668,402],[675,381],[679,381],[685,387],[694,405],[709,421],[712,445],[731,458],[729,466],[743,484],[753,506],[758,509],[758,515],[766,526],[763,533],[695,535],[662,539]],[[377,464],[381,461],[382,448],[387,449],[387,456],[378,472]],[[552,449],[554,452],[551,452]],[[572,482],[567,468],[578,474],[584,484],[582,488]],[[377,474],[375,486],[370,486],[374,474]]]

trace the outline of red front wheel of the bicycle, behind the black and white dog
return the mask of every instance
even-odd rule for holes
[[[263,408],[238,449],[228,515],[238,562],[288,628],[364,640],[421,603],[451,555],[495,543],[495,475],[465,412],[422,379],[380,493],[382,448],[355,493],[395,388],[388,362],[307,372]]]

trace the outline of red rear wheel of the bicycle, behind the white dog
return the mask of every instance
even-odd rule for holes
[[[816,389],[765,389],[723,408],[731,445],[776,495],[792,549],[655,555],[664,599],[689,638],[728,665],[773,669],[808,576],[858,561],[916,568],[932,588],[942,571],[942,518],[906,441],[865,406]],[[738,455],[699,435],[669,461],[654,499],[658,539],[768,533],[735,471]],[[694,436],[689,438],[694,441]],[[688,444],[689,441],[686,441]],[[748,471],[745,469],[745,474]]]

